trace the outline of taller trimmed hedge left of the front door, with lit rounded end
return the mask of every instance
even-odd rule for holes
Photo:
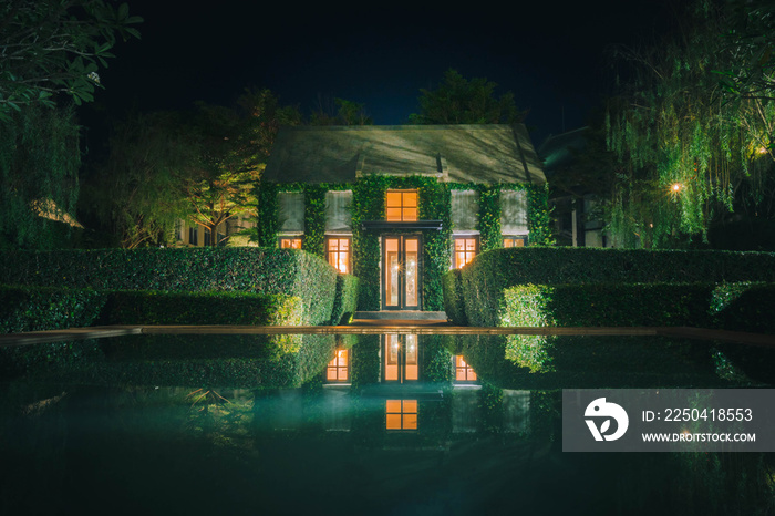
[[[304,324],[331,320],[337,290],[333,267],[292,249],[16,250],[0,252],[0,285],[298,297]]]

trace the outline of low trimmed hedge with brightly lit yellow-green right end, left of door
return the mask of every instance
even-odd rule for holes
[[[110,324],[301,326],[298,297],[251,292],[112,291],[103,311]]]

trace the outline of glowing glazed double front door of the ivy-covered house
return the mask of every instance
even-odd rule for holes
[[[420,310],[420,236],[382,237],[382,307]]]

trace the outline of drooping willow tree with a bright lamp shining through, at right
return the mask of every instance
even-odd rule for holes
[[[619,245],[706,239],[714,219],[772,197],[772,121],[762,99],[727,102],[719,75],[733,63],[707,9],[681,37],[619,51],[629,81],[609,105],[607,143],[619,157],[610,230]]]

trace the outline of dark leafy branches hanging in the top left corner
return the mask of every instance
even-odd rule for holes
[[[0,7],[0,120],[24,105],[54,107],[64,93],[76,104],[102,87],[116,37],[140,38],[126,3],[104,0],[7,0]]]

